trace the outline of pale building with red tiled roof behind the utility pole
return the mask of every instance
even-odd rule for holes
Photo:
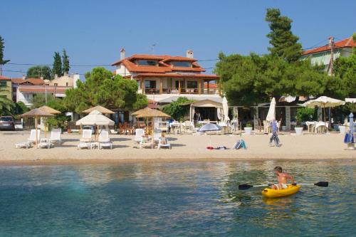
[[[334,43],[333,47],[333,60],[340,57],[348,57],[352,54],[352,48],[356,47],[356,43],[353,41],[352,36],[345,38],[342,41]],[[331,59],[331,47],[330,43],[318,48],[312,48],[302,53],[302,59],[310,58],[310,62],[313,65],[325,65],[325,70],[328,70]],[[329,72],[328,72],[329,73]]]

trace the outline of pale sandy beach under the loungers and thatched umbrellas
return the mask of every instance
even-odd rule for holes
[[[172,149],[138,149],[134,136],[110,135],[113,149],[77,149],[80,135],[63,134],[63,144],[51,149],[16,149],[28,139],[28,131],[0,132],[0,164],[100,164],[118,162],[232,161],[252,159],[356,159],[345,150],[343,135],[279,135],[281,147],[269,147],[268,135],[243,135],[248,149],[231,149],[239,135],[211,135],[214,147],[206,150],[209,135],[168,135]]]

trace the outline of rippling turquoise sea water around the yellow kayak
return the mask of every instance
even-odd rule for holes
[[[305,186],[265,200],[281,165]],[[355,162],[0,167],[0,236],[355,236]]]

